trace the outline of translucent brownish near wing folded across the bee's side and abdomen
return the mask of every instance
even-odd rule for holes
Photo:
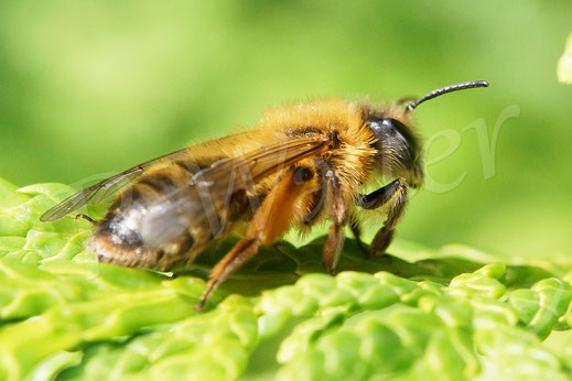
[[[148,205],[149,214],[142,229],[145,240],[169,241],[205,219],[216,237],[225,225],[225,208],[237,192],[251,189],[263,177],[325,152],[327,142],[325,138],[295,139],[215,162],[193,175],[188,186]]]

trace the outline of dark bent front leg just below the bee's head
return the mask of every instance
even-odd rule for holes
[[[403,177],[389,183],[369,195],[361,196],[357,205],[364,209],[376,209],[391,203],[384,227],[371,241],[371,254],[385,253],[395,235],[395,227],[406,210],[408,200],[407,183]]]

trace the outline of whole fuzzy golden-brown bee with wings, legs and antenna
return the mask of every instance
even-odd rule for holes
[[[384,253],[408,203],[423,183],[420,138],[411,112],[443,94],[486,87],[476,80],[439,88],[419,100],[385,106],[315,99],[268,109],[248,131],[192,144],[76,193],[41,217],[60,219],[118,193],[95,222],[88,249],[100,262],[166,271],[187,265],[213,241],[242,230],[214,266],[201,298],[299,226],[328,220],[323,266],[333,273],[349,226],[360,243],[360,209],[384,207],[387,219],[369,254]],[[360,189],[380,176],[379,189]]]

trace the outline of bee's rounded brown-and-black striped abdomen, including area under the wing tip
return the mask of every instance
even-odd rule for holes
[[[188,185],[198,170],[195,162],[173,162],[149,171],[126,188],[90,241],[98,259],[160,270],[191,262],[220,232],[214,231],[217,227],[207,218],[204,199]],[[228,230],[233,221],[226,222]]]

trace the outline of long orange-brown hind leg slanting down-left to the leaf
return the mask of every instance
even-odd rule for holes
[[[314,172],[305,166],[290,168],[258,208],[247,229],[246,237],[215,265],[197,308],[203,309],[208,296],[230,274],[255,257],[262,244],[281,238],[294,217],[294,207],[301,194],[312,184]]]

